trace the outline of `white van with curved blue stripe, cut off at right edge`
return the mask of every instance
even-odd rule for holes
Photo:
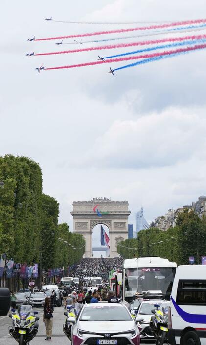
[[[179,266],[168,316],[171,345],[206,345],[206,266]]]

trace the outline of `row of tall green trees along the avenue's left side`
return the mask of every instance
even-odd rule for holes
[[[78,262],[84,238],[58,224],[58,216],[58,202],[42,193],[39,164],[27,157],[0,157],[0,254],[28,265],[41,258],[45,270]]]

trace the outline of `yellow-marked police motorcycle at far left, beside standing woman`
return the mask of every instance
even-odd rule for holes
[[[29,345],[29,342],[36,336],[39,327],[39,317],[35,316],[32,306],[21,304],[18,309],[12,309],[9,317],[12,319],[12,326],[9,327],[10,335],[19,345]]]

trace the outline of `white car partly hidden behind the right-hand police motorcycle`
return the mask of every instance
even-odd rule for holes
[[[154,339],[149,324],[151,317],[154,315],[152,309],[156,309],[155,304],[158,304],[161,309],[162,307],[169,307],[170,302],[162,299],[149,299],[141,302],[137,313],[137,316],[143,319],[143,321],[137,322],[141,339]]]

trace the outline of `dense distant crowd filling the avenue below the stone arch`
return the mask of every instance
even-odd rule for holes
[[[122,258],[83,258],[70,272],[73,277],[91,277],[100,272],[110,272],[112,269],[120,268],[123,264]]]

